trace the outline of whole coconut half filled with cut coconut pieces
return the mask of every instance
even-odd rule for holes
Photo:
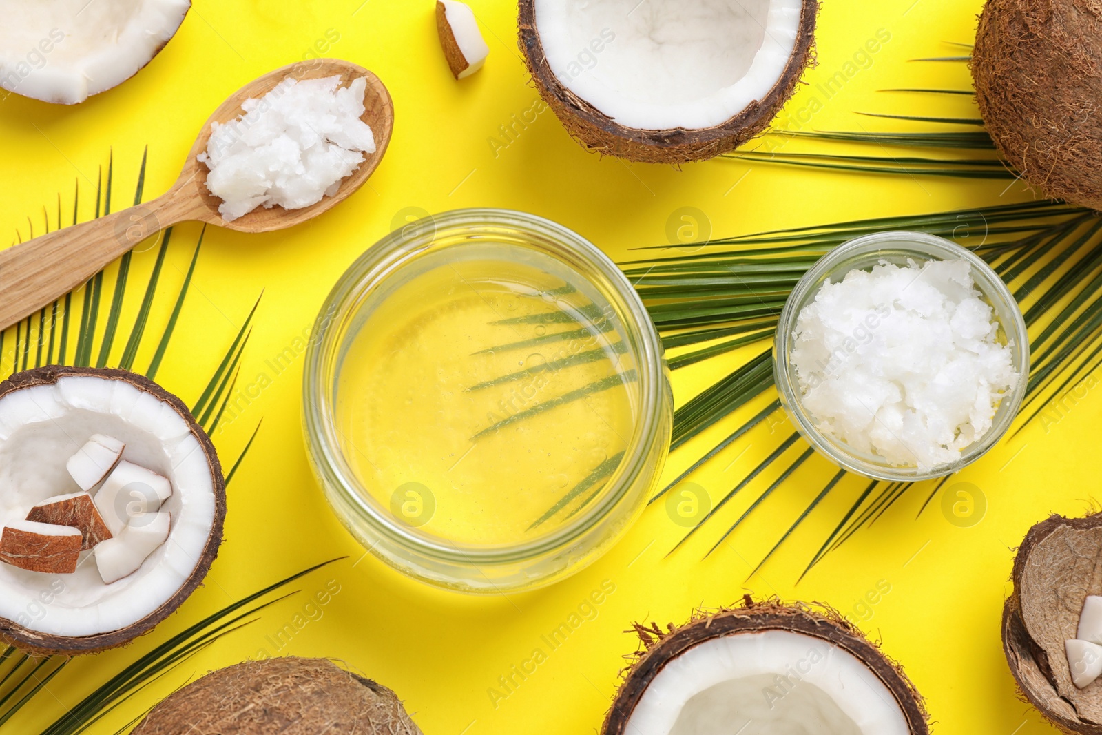
[[[35,653],[112,648],[199,585],[226,490],[175,396],[109,368],[0,382],[0,639]]]

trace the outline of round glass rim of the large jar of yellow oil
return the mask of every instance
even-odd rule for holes
[[[609,476],[611,491],[598,498],[592,507],[579,512],[569,522],[532,541],[498,547],[463,547],[426,538],[397,522],[385,509],[376,508],[367,499],[368,493],[353,488],[363,487],[344,460],[335,436],[331,391],[326,388],[324,371],[331,363],[327,356],[339,348],[343,331],[334,334],[333,327],[344,323],[357,312],[355,303],[365,293],[379,288],[403,266],[415,259],[419,251],[429,249],[437,234],[445,230],[508,227],[531,238],[531,245],[541,252],[561,259],[547,250],[538,239],[553,242],[577,258],[601,278],[607,287],[606,295],[615,295],[613,306],[623,325],[625,336],[633,342],[639,382],[639,413],[636,429],[625,451],[624,458]],[[454,247],[454,245],[444,246]],[[402,257],[402,253],[407,257]],[[568,263],[570,264],[570,263]],[[379,269],[383,268],[382,271]],[[573,268],[573,266],[572,266]],[[592,280],[593,273],[582,273]],[[550,219],[525,212],[498,208],[453,209],[429,215],[406,227],[396,229],[361,253],[341,275],[326,296],[311,333],[306,349],[303,379],[303,421],[307,451],[314,458],[318,473],[328,480],[356,514],[379,534],[446,562],[466,565],[478,563],[516,563],[561,549],[598,526],[617,507],[629,490],[634,479],[645,471],[651,437],[661,429],[659,407],[663,399],[665,372],[661,342],[658,332],[635,289],[624,272],[596,246],[573,230]],[[366,490],[366,488],[363,488]]]

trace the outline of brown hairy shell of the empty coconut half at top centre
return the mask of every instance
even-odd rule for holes
[[[536,88],[574,140],[591,151],[644,163],[702,161],[735,150],[768,127],[814,64],[817,0],[803,0],[796,46],[765,99],[755,100],[712,128],[642,130],[628,128],[565,87],[551,71],[536,26],[536,0],[520,0],[519,42]]]

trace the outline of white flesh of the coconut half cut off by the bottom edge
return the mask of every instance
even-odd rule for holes
[[[712,638],[669,661],[629,735],[908,735],[888,688],[849,651],[767,630]]]

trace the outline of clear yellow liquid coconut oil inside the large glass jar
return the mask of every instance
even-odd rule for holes
[[[343,453],[370,501],[464,547],[532,541],[599,501],[639,417],[598,290],[505,242],[406,271],[361,305],[336,380]]]

